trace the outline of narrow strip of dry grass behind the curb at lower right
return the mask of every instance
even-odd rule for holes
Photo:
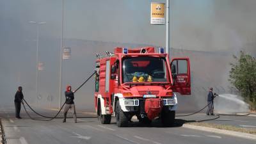
[[[225,129],[228,131],[244,132],[244,133],[256,135],[256,129],[246,129],[243,127],[235,127],[232,125],[211,124],[211,123],[204,123],[204,122],[191,122],[188,124],[202,126],[202,127],[211,127],[215,129]]]

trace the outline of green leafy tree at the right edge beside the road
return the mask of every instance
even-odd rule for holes
[[[230,63],[230,83],[239,90],[241,96],[250,104],[250,109],[256,109],[256,58],[240,52],[236,62]]]

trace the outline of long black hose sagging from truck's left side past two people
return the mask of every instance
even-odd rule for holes
[[[87,83],[87,81],[89,81],[89,79],[91,79],[92,76],[93,76],[95,73],[96,73],[96,72],[93,72],[93,74],[92,74],[90,77],[88,77],[88,78],[86,79],[86,81],[84,81],[84,83],[81,84],[81,85],[74,91],[74,93],[76,93],[77,90],[79,90],[85,83]],[[29,115],[29,113],[28,113],[28,111],[27,111],[27,109],[26,109],[26,106],[24,105],[24,102],[22,101],[22,105],[23,105],[23,107],[24,107],[24,109],[25,109],[27,115],[29,116],[29,118],[31,118],[31,120],[51,121],[51,120],[53,120],[54,118],[57,118],[57,116],[60,114],[61,109],[62,109],[63,106],[65,105],[65,102],[64,102],[64,103],[62,104],[60,110],[58,111],[58,113],[56,113],[56,115],[55,115],[54,117],[51,117],[51,116],[45,116],[45,115],[42,115],[42,114],[40,114],[40,113],[37,113],[33,108],[31,108],[31,106],[28,104],[28,102],[27,102],[25,99],[23,99],[23,100],[24,100],[24,102],[28,105],[28,107],[29,107],[34,113],[36,113],[36,115],[42,116],[43,118],[50,118],[49,120],[42,120],[42,119],[37,119],[37,118],[31,117],[31,115]]]

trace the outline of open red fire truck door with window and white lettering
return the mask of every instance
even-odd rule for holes
[[[191,94],[189,58],[173,58],[171,63],[173,92],[181,95]]]

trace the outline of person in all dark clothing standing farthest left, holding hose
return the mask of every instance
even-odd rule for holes
[[[22,93],[22,87],[19,86],[18,91],[15,93],[15,99],[14,99],[14,104],[15,104],[15,117],[16,118],[21,118],[20,117],[20,103],[22,102],[23,99],[23,93]]]

